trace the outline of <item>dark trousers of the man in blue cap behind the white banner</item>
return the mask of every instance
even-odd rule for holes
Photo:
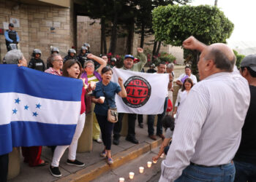
[[[123,119],[124,113],[118,113],[118,122],[114,124],[113,129],[113,138],[119,139],[120,138],[120,132],[122,127],[122,119]],[[128,134],[129,137],[135,137],[135,121],[137,119],[137,114],[128,114]]]

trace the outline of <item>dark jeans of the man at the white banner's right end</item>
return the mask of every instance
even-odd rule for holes
[[[164,111],[162,114],[157,114],[157,135],[162,134],[162,118],[165,116],[168,98],[165,98]],[[148,115],[148,135],[154,135],[154,117],[155,115]]]

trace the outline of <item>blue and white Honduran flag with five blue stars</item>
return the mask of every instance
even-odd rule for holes
[[[69,145],[83,82],[17,65],[0,65],[0,155],[16,146]]]

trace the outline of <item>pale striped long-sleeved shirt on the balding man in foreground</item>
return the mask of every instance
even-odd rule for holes
[[[175,181],[190,162],[229,163],[241,141],[249,99],[248,82],[234,72],[213,74],[195,84],[176,118],[159,181]]]

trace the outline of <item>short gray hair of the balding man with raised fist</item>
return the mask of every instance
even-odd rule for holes
[[[236,56],[233,55],[233,59],[230,60],[225,52],[222,50],[212,48],[208,55],[206,55],[205,60],[213,59],[216,65],[216,68],[219,68],[223,71],[232,72],[236,63]]]

